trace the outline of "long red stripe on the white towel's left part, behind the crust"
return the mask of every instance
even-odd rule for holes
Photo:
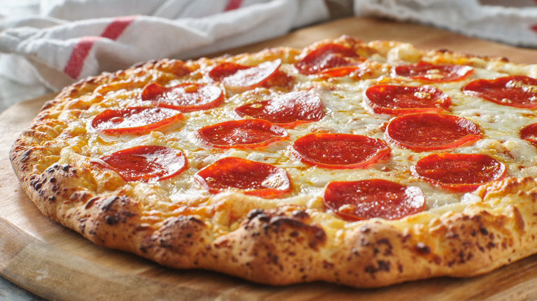
[[[84,61],[89,54],[89,50],[92,49],[95,41],[100,38],[116,40],[135,18],[136,16],[118,17],[114,19],[112,23],[108,24],[101,36],[83,36],[80,41],[74,45],[73,52],[71,52],[71,56],[69,57],[69,60],[67,60],[63,73],[70,76],[70,78],[78,78],[84,67]]]

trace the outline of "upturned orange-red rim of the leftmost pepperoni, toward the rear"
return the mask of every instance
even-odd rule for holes
[[[105,111],[102,111],[101,113],[98,113],[92,120],[92,128],[95,129],[97,133],[101,133],[104,135],[120,135],[124,133],[131,133],[134,135],[141,135],[145,133],[149,133],[151,131],[158,131],[162,129],[166,129],[168,126],[172,126],[173,124],[176,124],[177,122],[180,122],[184,116],[180,111],[176,111],[177,113],[175,115],[171,115],[168,118],[164,118],[162,120],[159,120],[158,122],[153,122],[151,124],[146,124],[145,126],[132,126],[132,127],[125,127],[125,128],[112,128],[112,129],[99,129],[98,125],[102,124],[103,122],[106,122],[107,120],[102,120],[102,118],[114,118],[118,117],[114,115],[114,113],[120,113],[120,111],[127,111],[127,110],[134,110],[136,113],[139,113],[139,111],[142,111],[143,109],[156,109],[155,107],[127,107],[125,109],[119,109],[119,110],[113,110],[113,109],[107,109]],[[167,108],[164,108],[167,109]],[[169,109],[172,111],[172,109]]]

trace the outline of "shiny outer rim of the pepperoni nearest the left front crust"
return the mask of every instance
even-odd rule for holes
[[[125,170],[116,168],[116,167],[112,166],[111,164],[109,164],[107,162],[107,158],[112,157],[112,156],[116,156],[116,155],[123,155],[124,153],[127,154],[127,155],[129,153],[130,154],[134,153],[134,155],[142,155],[143,153],[136,153],[136,151],[144,150],[144,149],[150,149],[150,150],[155,150],[155,151],[164,150],[164,151],[166,151],[168,153],[167,155],[169,155],[169,157],[166,157],[166,158],[160,157],[159,159],[167,159],[168,161],[173,160],[173,159],[178,159],[179,160],[178,164],[181,164],[181,166],[179,168],[176,168],[176,170],[173,170],[171,172],[167,172],[166,175],[158,176],[158,177],[148,177],[147,173],[144,174],[144,175],[139,175],[139,176],[129,176],[129,175],[125,174]],[[173,157],[174,155],[176,157]],[[182,161],[182,162],[180,162],[180,161]],[[142,146],[134,146],[134,147],[131,147],[131,148],[125,148],[123,150],[118,150],[115,153],[112,153],[112,154],[104,156],[104,157],[100,157],[100,158],[97,158],[97,159],[91,159],[90,162],[92,164],[96,164],[96,165],[101,166],[103,168],[107,168],[109,170],[113,170],[114,172],[117,172],[118,175],[120,175],[120,177],[123,178],[125,181],[143,181],[143,182],[162,181],[162,180],[165,180],[165,179],[171,179],[172,177],[176,177],[177,175],[180,175],[180,173],[183,172],[188,166],[187,157],[186,157],[185,153],[183,153],[181,150],[177,150],[175,148],[169,148],[169,147],[166,147],[166,146],[150,146],[150,145],[149,146],[142,145]],[[165,165],[164,164],[159,164],[159,165],[160,166],[165,166],[167,168],[170,168],[171,166],[173,166],[172,164],[165,164]]]

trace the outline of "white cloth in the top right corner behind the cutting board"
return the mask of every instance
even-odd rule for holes
[[[534,0],[354,0],[356,15],[442,27],[466,36],[537,47]]]

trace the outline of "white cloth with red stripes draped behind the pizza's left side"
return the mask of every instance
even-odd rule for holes
[[[323,0],[50,3],[39,15],[0,19],[0,76],[59,91],[103,71],[198,57],[329,18]]]

